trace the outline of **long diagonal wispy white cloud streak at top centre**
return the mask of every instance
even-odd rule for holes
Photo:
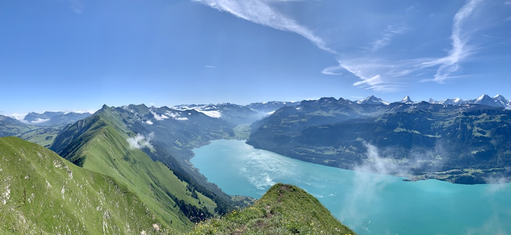
[[[297,2],[292,0],[192,0],[237,17],[274,29],[297,33],[316,44],[321,50],[334,53],[323,39],[271,6],[272,3]]]

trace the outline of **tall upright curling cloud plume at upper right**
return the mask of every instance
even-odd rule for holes
[[[439,66],[432,81],[443,83],[448,79],[451,73],[456,72],[459,68],[459,62],[467,58],[473,52],[474,48],[467,45],[470,40],[470,33],[463,32],[462,26],[472,13],[476,10],[481,0],[468,1],[454,15],[452,26],[452,48],[446,57],[433,61],[425,62],[423,67]]]

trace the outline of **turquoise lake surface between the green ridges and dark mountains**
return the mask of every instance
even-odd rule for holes
[[[358,234],[511,234],[510,183],[406,182],[296,160],[244,140],[215,140],[194,152],[191,162],[227,194],[260,198],[277,182],[294,184]]]

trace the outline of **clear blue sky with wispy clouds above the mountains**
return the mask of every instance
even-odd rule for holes
[[[0,1],[0,114],[511,98],[511,1]]]

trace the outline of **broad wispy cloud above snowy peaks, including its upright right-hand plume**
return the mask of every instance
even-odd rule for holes
[[[432,79],[422,81],[443,83],[447,78],[457,77],[452,73],[456,72],[460,62],[475,50],[473,46],[468,45],[470,33],[473,31],[464,30],[463,23],[477,10],[480,2],[481,0],[469,0],[455,14],[451,34],[452,49],[445,57],[396,60],[383,58],[377,54],[371,55],[369,52],[383,48],[391,42],[393,37],[408,29],[404,26],[390,25],[384,30],[380,39],[370,43],[370,47],[364,48],[369,51],[364,57],[338,59],[337,68],[343,68],[361,80],[353,83],[354,86],[383,92],[397,91],[404,83],[409,82],[410,78],[423,77],[425,73],[435,73],[435,75]],[[325,70],[327,72],[333,70],[334,67],[324,69],[323,73]]]

